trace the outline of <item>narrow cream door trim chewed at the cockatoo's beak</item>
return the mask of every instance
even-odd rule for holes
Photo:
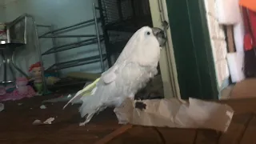
[[[166,0],[149,0],[153,26],[162,28],[162,22],[169,22]],[[178,76],[170,28],[166,31],[166,46],[161,51],[160,70],[165,98],[180,98]]]

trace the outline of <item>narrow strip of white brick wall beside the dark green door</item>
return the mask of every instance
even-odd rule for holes
[[[210,42],[214,54],[214,64],[217,74],[218,87],[222,90],[229,85],[229,69],[226,60],[227,45],[223,26],[218,24],[215,12],[215,0],[205,0],[206,18],[210,32]]]

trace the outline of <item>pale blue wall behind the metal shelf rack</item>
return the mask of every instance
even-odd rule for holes
[[[38,24],[54,25],[55,28],[73,25],[93,18],[92,11],[93,0],[6,0],[5,14],[6,21],[12,21],[21,14],[27,13],[34,16]],[[1,11],[0,11],[1,12]],[[0,17],[1,18],[1,17]],[[39,34],[46,32],[46,28],[40,28]],[[87,26],[79,30],[74,30],[66,34],[95,34],[94,26]],[[31,39],[31,37],[30,37]],[[84,39],[84,38],[80,38]],[[58,45],[69,42],[78,42],[79,38],[59,38]],[[31,41],[30,41],[31,42]],[[52,47],[51,39],[40,39],[42,52]],[[31,51],[29,54],[28,51]],[[34,44],[27,46],[26,50],[19,52],[18,66],[22,70],[28,70],[30,64],[38,61],[38,51]],[[77,49],[67,50],[58,53],[59,62],[74,60],[76,58],[86,58],[90,55],[98,54],[98,45],[82,46]],[[54,63],[54,54],[43,56],[43,62],[46,66]],[[94,63],[85,66],[77,66],[62,70],[62,74],[70,71],[100,72],[100,63]]]

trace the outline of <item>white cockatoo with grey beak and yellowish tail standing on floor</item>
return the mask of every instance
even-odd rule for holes
[[[126,98],[134,99],[134,94],[146,86],[150,78],[158,74],[160,50],[165,43],[166,35],[160,28],[143,26],[137,30],[114,66],[106,70],[90,86],[78,91],[70,100],[82,100],[79,112],[82,118],[86,116],[86,121],[81,125],[90,122],[94,114],[108,106],[120,106]],[[89,94],[87,90],[90,90]]]

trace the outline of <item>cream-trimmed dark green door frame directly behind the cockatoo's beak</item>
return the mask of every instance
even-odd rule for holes
[[[162,27],[164,20],[170,24],[170,28],[167,30],[168,41],[166,48],[162,50],[160,59],[165,97],[218,99],[218,82],[204,0],[197,0],[196,2],[189,0],[150,0],[150,9],[154,26]],[[185,14],[185,19],[178,18],[180,10],[184,10],[182,12],[183,15]],[[175,22],[175,24],[173,25],[171,22]],[[184,24],[184,22],[187,23]],[[186,45],[178,40],[179,24],[187,29],[186,40],[190,42],[191,49],[193,49],[191,50],[193,57],[183,61],[179,55],[184,53],[183,46]],[[190,61],[194,63],[190,65]],[[186,66],[190,68],[186,68]],[[190,73],[191,70],[194,73]],[[194,78],[196,82],[190,80],[187,83],[186,78]],[[189,86],[194,86],[194,89],[197,90],[188,88]]]

